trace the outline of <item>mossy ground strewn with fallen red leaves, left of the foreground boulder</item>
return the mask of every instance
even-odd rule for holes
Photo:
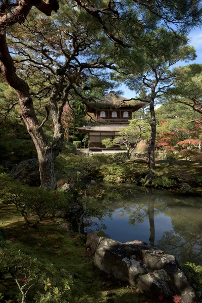
[[[36,229],[27,228],[13,205],[0,204],[1,226],[6,229],[7,241],[41,263],[49,261],[55,269],[64,268],[73,276],[69,303],[154,303],[158,297],[144,295],[122,281],[106,275],[94,266],[90,252],[77,233],[67,234],[54,225],[54,220],[43,221]],[[8,289],[16,288],[11,280]],[[12,284],[13,283],[13,284]],[[0,285],[0,293],[4,292]],[[12,296],[12,290],[9,292]],[[9,299],[8,293],[5,299]],[[4,302],[4,299],[3,301]],[[12,302],[16,302],[13,300]],[[33,302],[27,299],[26,302]],[[163,299],[163,302],[168,302]]]

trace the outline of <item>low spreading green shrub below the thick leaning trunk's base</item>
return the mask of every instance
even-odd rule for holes
[[[38,219],[34,225],[44,218],[54,215],[62,208],[68,208],[72,193],[31,187],[13,181],[8,175],[0,175],[0,197],[5,204],[14,204],[26,223],[31,224],[31,216]],[[28,218],[29,217],[29,218]]]

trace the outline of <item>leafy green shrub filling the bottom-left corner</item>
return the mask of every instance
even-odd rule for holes
[[[2,302],[6,295],[11,302],[34,298],[38,303],[68,303],[73,281],[64,269],[56,270],[51,263],[41,263],[8,244],[0,246],[0,259],[0,282],[7,286],[0,293]]]

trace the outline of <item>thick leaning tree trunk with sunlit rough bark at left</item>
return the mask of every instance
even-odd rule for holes
[[[42,127],[38,123],[32,98],[29,93],[29,86],[16,74],[16,68],[9,53],[4,29],[0,31],[0,62],[0,72],[9,85],[17,92],[22,118],[36,147],[41,187],[56,189],[53,150]]]

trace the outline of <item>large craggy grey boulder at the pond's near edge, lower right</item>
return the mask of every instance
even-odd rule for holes
[[[175,257],[160,249],[141,241],[121,243],[100,237],[97,231],[87,235],[86,246],[100,270],[137,285],[141,292],[162,295],[171,301],[177,294],[180,303],[201,302]]]

